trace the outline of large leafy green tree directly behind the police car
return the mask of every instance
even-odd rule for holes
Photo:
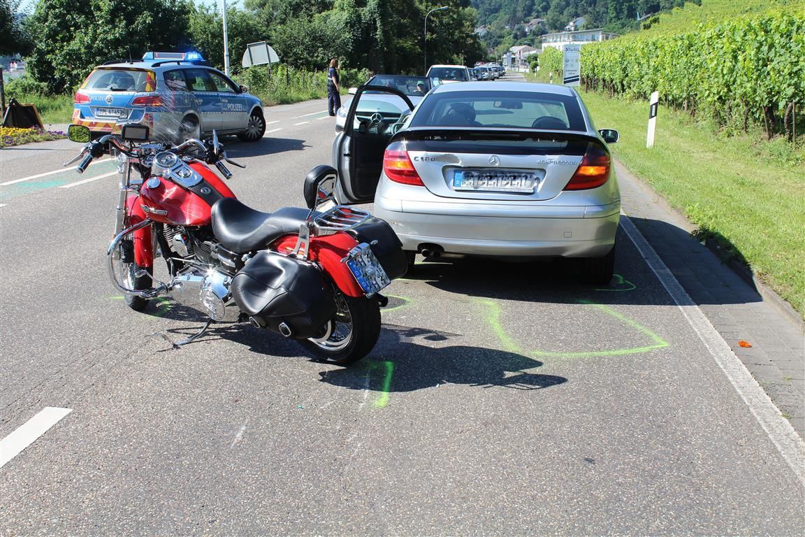
[[[41,0],[28,65],[51,93],[68,93],[93,67],[143,52],[188,48],[189,0]]]

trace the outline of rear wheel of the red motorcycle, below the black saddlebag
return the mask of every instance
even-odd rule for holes
[[[336,316],[316,337],[300,343],[316,359],[339,366],[365,357],[380,336],[380,304],[376,299],[353,298],[336,292]]]

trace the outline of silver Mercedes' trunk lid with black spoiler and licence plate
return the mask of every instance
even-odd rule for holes
[[[597,138],[534,130],[407,130],[394,141],[425,187],[464,200],[550,200],[559,195]]]

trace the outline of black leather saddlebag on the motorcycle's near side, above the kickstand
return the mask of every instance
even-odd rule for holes
[[[232,279],[231,290],[242,312],[287,337],[313,337],[336,315],[332,287],[316,267],[282,254],[255,255]],[[280,328],[283,323],[290,333]]]

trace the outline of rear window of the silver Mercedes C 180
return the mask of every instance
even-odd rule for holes
[[[431,94],[411,119],[411,126],[587,130],[576,97],[523,91]]]

